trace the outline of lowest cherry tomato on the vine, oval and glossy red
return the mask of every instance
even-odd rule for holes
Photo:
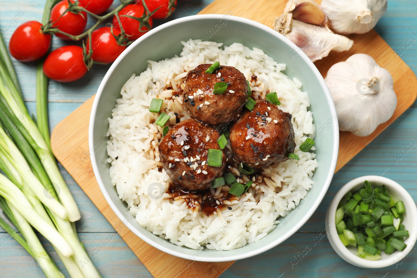
[[[66,45],[52,51],[43,63],[43,73],[59,82],[71,82],[87,72],[83,60],[83,48]]]

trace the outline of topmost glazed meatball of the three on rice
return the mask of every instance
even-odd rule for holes
[[[184,108],[203,123],[220,125],[233,122],[246,103],[246,78],[239,70],[229,66],[220,66],[214,73],[206,73],[210,66],[198,65],[188,72],[183,93]],[[218,82],[229,84],[221,95],[213,93],[214,85]]]

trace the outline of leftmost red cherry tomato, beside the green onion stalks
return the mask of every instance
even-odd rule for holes
[[[28,21],[16,28],[10,38],[10,54],[19,61],[30,62],[39,59],[49,49],[51,35],[43,34],[38,21]]]

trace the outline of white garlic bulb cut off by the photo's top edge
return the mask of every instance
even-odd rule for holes
[[[322,0],[322,10],[336,33],[363,34],[377,25],[387,11],[387,0]],[[332,15],[332,16],[331,16]]]

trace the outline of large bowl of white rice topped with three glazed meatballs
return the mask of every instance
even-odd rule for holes
[[[293,43],[231,15],[161,25],[113,63],[89,130],[95,177],[139,238],[189,260],[274,248],[332,180],[329,90]]]

